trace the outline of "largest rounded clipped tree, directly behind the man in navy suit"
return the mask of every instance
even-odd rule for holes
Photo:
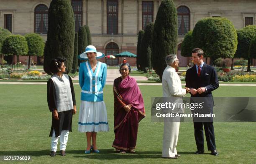
[[[238,44],[236,29],[226,18],[204,18],[193,29],[192,43],[204,50],[205,57],[233,58]]]

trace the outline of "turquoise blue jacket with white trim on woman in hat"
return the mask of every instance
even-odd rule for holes
[[[95,71],[92,71],[88,61],[80,64],[79,85],[82,88],[82,101],[103,101],[103,88],[107,78],[107,65],[98,61]]]

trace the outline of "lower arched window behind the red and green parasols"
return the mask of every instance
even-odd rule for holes
[[[116,55],[119,53],[119,48],[118,45],[116,43],[108,43],[108,45],[106,46],[106,56],[107,55]],[[118,65],[118,58],[115,59],[105,59],[105,63],[107,63],[108,66],[116,66]]]

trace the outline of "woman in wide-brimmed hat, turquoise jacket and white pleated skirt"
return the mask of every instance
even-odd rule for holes
[[[78,131],[86,132],[87,149],[85,154],[95,153],[97,149],[96,135],[98,131],[109,131],[107,110],[103,101],[103,88],[107,78],[107,65],[97,61],[104,57],[97,52],[95,46],[88,45],[79,59],[86,60],[80,64],[79,84],[81,91],[81,106],[79,111]],[[92,139],[92,144],[91,144]]]

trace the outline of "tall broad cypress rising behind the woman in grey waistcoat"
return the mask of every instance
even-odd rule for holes
[[[47,41],[44,49],[44,71],[51,74],[52,58],[67,59],[66,73],[72,71],[74,55],[74,13],[69,0],[52,0],[48,13]]]

